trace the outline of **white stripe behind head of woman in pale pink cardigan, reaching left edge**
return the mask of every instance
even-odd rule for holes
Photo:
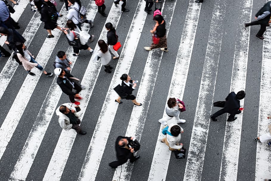
[[[36,12],[34,16],[31,18],[31,20],[29,21],[29,24],[27,25],[23,33],[23,36],[26,39],[26,41],[24,42],[26,46],[30,45],[35,34],[37,33],[38,28],[41,25],[40,19],[41,19],[40,13]],[[12,56],[13,56],[13,53],[0,73],[0,99],[2,98],[13,74],[15,73],[15,70],[17,69],[19,65],[15,60],[13,60]]]

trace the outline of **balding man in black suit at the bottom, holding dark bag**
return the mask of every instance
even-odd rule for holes
[[[130,147],[130,141],[133,140],[133,137],[123,137],[119,136],[115,143],[116,153],[118,161],[114,161],[109,163],[109,166],[112,168],[117,168],[119,165],[126,163],[128,159],[130,162],[133,163],[136,161],[140,156],[134,156],[134,148]]]

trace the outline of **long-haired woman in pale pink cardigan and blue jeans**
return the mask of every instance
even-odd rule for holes
[[[29,75],[32,75],[32,76],[36,75],[33,72],[31,72],[31,69],[34,66],[37,67],[41,72],[43,72],[46,77],[53,75],[51,72],[46,72],[43,69],[43,67],[34,60],[34,56],[27,50],[27,48],[24,46],[23,43],[17,42],[16,48],[17,48],[18,59],[22,62],[24,69],[27,71]]]

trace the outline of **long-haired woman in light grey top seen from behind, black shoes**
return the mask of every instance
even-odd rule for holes
[[[98,51],[98,60],[101,58],[101,63],[103,66],[105,66],[105,72],[111,73],[110,69],[113,69],[110,65],[109,62],[111,60],[111,54],[108,51],[108,45],[105,43],[103,40],[98,41],[98,45],[100,47],[100,50]]]

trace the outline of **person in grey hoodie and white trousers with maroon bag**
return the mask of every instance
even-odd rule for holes
[[[169,98],[169,100],[167,101],[166,108],[165,108],[166,116],[158,120],[158,122],[163,125],[166,125],[167,121],[171,120],[174,117],[177,120],[177,123],[185,123],[186,120],[179,118],[180,111],[181,111],[180,109],[182,108],[183,108],[183,105],[177,102],[175,98]]]

